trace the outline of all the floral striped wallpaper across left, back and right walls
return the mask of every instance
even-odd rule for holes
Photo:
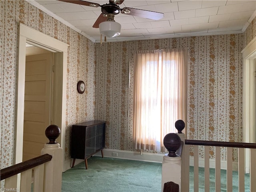
[[[132,148],[135,50],[188,48],[189,139],[242,141],[241,50],[256,36],[256,19],[243,34],[94,44],[27,1],[0,1],[1,168],[14,160],[18,23],[69,44],[65,160],[72,124],[106,120],[106,148]],[[76,83],[86,84],[78,94]],[[200,153],[202,155],[202,153]],[[214,150],[210,151],[214,157]],[[222,158],[225,158],[224,156]],[[236,153],[234,153],[236,158]]]

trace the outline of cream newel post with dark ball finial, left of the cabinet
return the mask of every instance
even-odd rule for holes
[[[60,128],[56,125],[50,125],[45,130],[45,135],[49,142],[44,145],[41,155],[52,155],[52,160],[45,163],[44,166],[44,191],[60,192],[62,185],[62,148],[55,140],[60,135]]]

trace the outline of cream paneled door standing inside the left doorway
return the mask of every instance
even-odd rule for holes
[[[23,158],[40,156],[51,122],[52,53],[26,56]]]

